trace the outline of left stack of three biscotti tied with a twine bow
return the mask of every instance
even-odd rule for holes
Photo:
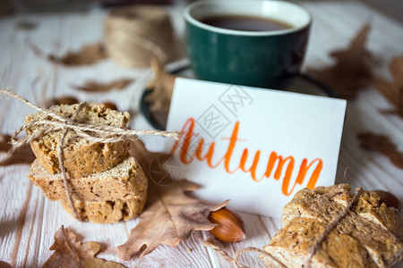
[[[64,208],[67,207],[66,210],[78,221],[117,222],[140,214],[147,196],[148,181],[128,154],[130,142],[141,135],[181,137],[178,132],[128,130],[124,126],[129,113],[119,113],[105,105],[84,102],[55,105],[47,110],[7,89],[0,89],[0,95],[11,96],[39,112],[28,115],[26,123],[14,132],[10,141],[12,147],[5,160],[15,150],[30,144],[38,157],[38,161],[31,165],[30,179],[34,182],[38,179],[35,184],[42,185],[49,198],[61,198],[60,192],[64,191]],[[28,137],[18,138],[23,130]],[[119,164],[124,158],[127,161]],[[57,168],[60,174],[54,174]],[[106,170],[108,172],[102,172]],[[93,174],[90,178],[83,178],[89,173]],[[84,186],[82,182],[85,182]],[[91,197],[97,199],[95,203],[87,200]],[[132,202],[121,202],[122,199],[131,199]],[[100,218],[89,216],[97,213],[97,207]],[[107,216],[110,213],[112,218]]]

